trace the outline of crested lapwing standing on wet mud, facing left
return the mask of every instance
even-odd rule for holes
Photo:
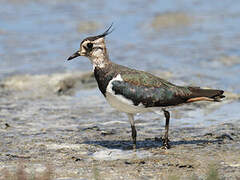
[[[223,90],[203,89],[193,86],[178,86],[151,73],[132,69],[112,62],[109,58],[105,37],[113,32],[112,25],[97,36],[82,40],[80,48],[68,57],[87,57],[92,65],[98,88],[107,102],[120,112],[127,114],[132,130],[133,149],[137,145],[134,115],[144,112],[163,112],[165,133],[162,148],[169,149],[169,108],[197,101],[220,102]]]

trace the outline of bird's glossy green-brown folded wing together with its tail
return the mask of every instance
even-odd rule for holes
[[[116,95],[131,99],[135,106],[165,107],[195,101],[219,101],[222,90],[176,86],[149,73],[131,72],[122,75],[123,81],[113,81]]]

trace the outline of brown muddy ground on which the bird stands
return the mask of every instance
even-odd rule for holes
[[[26,177],[51,171],[49,179],[240,178],[240,118],[179,124],[196,108],[207,114],[239,95],[173,110],[169,150],[161,149],[163,116],[139,115],[133,151],[127,118],[109,107],[91,73],[15,76],[0,84],[0,179],[19,175],[19,167]]]

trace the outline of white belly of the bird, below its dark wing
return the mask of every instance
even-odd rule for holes
[[[136,114],[151,111],[150,108],[134,106],[131,100],[124,98],[122,95],[113,95],[107,92],[106,99],[112,107],[121,112]]]

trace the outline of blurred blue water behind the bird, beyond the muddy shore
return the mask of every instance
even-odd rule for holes
[[[240,1],[1,0],[0,78],[91,71],[83,38],[102,33],[112,61],[178,84],[240,93]]]

